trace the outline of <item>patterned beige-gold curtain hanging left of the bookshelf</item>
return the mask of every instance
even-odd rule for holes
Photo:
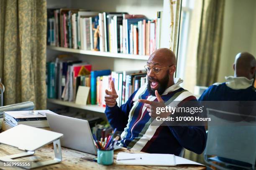
[[[46,0],[0,0],[0,76],[4,105],[46,108]]]

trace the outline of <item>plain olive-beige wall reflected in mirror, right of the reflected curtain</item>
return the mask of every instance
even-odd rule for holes
[[[233,62],[238,52],[247,51],[256,56],[255,20],[255,0],[225,1],[223,43],[220,54],[218,82],[224,82],[225,76],[234,75]]]

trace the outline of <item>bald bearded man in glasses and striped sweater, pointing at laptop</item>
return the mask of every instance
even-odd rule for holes
[[[113,82],[106,90],[105,114],[113,128],[123,132],[120,145],[147,153],[169,153],[179,155],[182,148],[200,154],[205,149],[206,133],[203,126],[153,126],[151,106],[153,101],[165,107],[175,99],[196,100],[187,90],[179,86],[181,79],[174,79],[176,57],[161,48],[153,52],[145,65],[148,83],[136,90],[120,107]]]

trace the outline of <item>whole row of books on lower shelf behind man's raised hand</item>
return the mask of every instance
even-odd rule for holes
[[[57,57],[47,62],[47,97],[69,102],[76,101],[79,86],[90,87],[85,104],[105,106],[105,89],[113,80],[118,93],[118,106],[124,104],[131,94],[144,85],[146,72],[142,70],[111,72],[92,70],[92,65],[80,60],[64,60]]]

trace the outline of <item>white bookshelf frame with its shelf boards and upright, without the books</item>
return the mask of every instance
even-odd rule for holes
[[[99,12],[128,12],[143,14],[147,18],[156,18],[157,11],[163,11],[164,21],[161,26],[161,47],[169,48],[170,0],[47,0],[47,8],[80,8]],[[79,50],[65,47],[47,46],[47,61],[53,60],[59,54],[72,53],[83,62],[92,64],[93,70],[110,69],[112,71],[143,70],[148,60],[147,55],[132,55],[124,53]],[[98,105],[77,105],[58,99],[47,99],[47,103],[67,106],[92,112],[104,113],[105,107]]]

